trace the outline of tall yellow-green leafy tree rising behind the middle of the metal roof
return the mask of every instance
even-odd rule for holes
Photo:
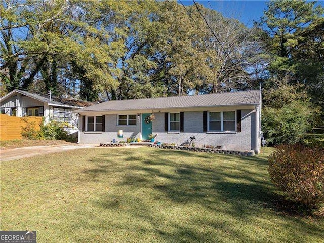
[[[166,95],[198,93],[208,70],[203,20],[193,6],[185,9],[171,1],[162,4],[159,15],[165,28],[152,55],[155,78],[163,81]]]

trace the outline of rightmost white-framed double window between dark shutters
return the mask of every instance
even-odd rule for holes
[[[208,112],[208,131],[236,131],[236,112]]]

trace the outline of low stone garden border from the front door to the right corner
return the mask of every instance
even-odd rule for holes
[[[195,151],[195,152],[205,152],[205,153],[234,154],[234,155],[250,156],[250,157],[255,155],[253,150],[242,152],[242,151],[233,151],[233,150],[222,150],[217,148],[197,148],[197,147],[174,146],[174,145],[150,144],[148,146],[154,148],[175,149],[175,150],[185,150],[185,151]]]

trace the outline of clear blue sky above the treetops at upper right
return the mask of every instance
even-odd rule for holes
[[[181,0],[184,5],[192,5],[192,0]],[[253,21],[259,20],[266,9],[266,1],[258,0],[195,0],[197,3],[204,5],[206,8],[213,8],[221,12],[226,17],[239,19],[248,27],[253,26]],[[179,2],[179,1],[178,1]],[[317,4],[323,5],[323,1]]]

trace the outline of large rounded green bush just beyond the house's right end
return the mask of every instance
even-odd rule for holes
[[[311,128],[313,113],[307,102],[293,101],[282,108],[262,109],[262,131],[269,144],[294,144]]]

